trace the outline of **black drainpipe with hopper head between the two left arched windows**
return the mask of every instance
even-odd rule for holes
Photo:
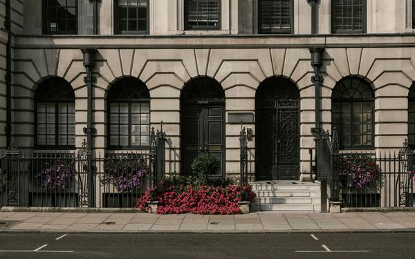
[[[86,134],[86,143],[87,143],[87,157],[88,164],[86,166],[86,171],[88,173],[88,206],[95,207],[95,191],[94,191],[94,177],[93,172],[95,171],[92,164],[92,135],[95,133],[95,128],[92,128],[92,95],[93,95],[93,83],[96,81],[96,78],[92,75],[93,67],[95,66],[95,48],[82,48],[82,53],[84,54],[84,67],[86,70],[86,77],[84,81],[87,84],[88,88],[88,104],[87,104],[87,116],[86,116],[86,128],[84,128],[84,133]]]

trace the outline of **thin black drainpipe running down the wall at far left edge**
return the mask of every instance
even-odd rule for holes
[[[6,0],[6,20],[4,25],[8,32],[6,44],[6,146],[12,142],[12,32],[10,0]]]

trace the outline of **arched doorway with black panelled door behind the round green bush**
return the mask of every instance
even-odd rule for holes
[[[188,175],[194,157],[216,155],[225,169],[225,92],[214,79],[198,77],[181,93],[181,172]]]

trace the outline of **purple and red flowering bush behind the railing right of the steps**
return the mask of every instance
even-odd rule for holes
[[[339,173],[340,186],[352,184],[358,189],[373,183],[376,186],[376,181],[380,179],[380,168],[369,155],[353,154],[343,157]]]

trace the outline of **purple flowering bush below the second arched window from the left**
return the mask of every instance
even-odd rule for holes
[[[104,184],[113,184],[120,193],[131,193],[144,184],[147,163],[142,155],[123,154],[104,160]]]

